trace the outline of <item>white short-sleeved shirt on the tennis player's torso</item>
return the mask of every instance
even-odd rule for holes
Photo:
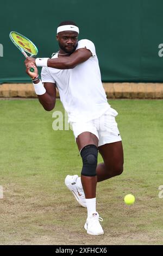
[[[89,121],[100,117],[109,108],[112,110],[101,81],[95,45],[92,41],[83,39],[78,41],[76,50],[84,47],[92,52],[92,57],[75,68],[43,67],[41,71],[42,83],[56,84],[69,122]],[[52,58],[58,58],[58,54]]]

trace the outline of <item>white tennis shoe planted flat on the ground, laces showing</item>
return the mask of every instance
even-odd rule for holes
[[[99,217],[98,212],[95,212],[95,214],[91,214],[86,219],[86,223],[84,225],[85,230],[87,230],[87,234],[90,235],[103,235],[104,230],[99,223],[99,221],[103,221],[103,218]]]

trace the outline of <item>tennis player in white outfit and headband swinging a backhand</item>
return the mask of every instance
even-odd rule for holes
[[[59,90],[83,160],[81,177],[67,175],[65,184],[78,203],[87,208],[84,225],[87,233],[102,235],[99,222],[102,218],[96,210],[96,185],[123,172],[123,148],[115,120],[118,113],[106,99],[95,45],[87,39],[78,41],[78,35],[76,23],[61,22],[57,28],[59,51],[52,58],[28,57],[25,64],[46,111],[54,108],[56,87]],[[34,73],[29,71],[31,66]],[[42,66],[41,80],[36,66]],[[103,163],[97,164],[98,152]]]

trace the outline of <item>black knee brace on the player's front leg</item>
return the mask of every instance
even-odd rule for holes
[[[80,152],[83,160],[82,175],[96,176],[98,149],[96,145],[86,145]]]

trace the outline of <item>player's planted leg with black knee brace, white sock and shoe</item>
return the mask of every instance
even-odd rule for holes
[[[78,136],[76,142],[83,160],[80,182],[82,182],[81,186],[83,186],[87,206],[87,220],[84,228],[87,230],[88,234],[102,235],[104,231],[99,223],[99,220],[102,219],[96,211],[98,138],[91,132],[83,132]]]

